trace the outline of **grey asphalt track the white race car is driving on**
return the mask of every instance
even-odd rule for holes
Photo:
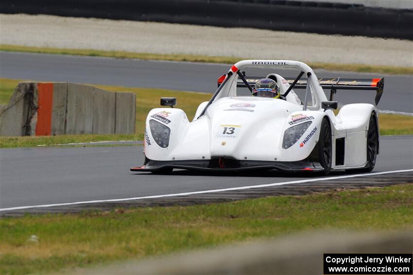
[[[413,136],[382,137],[380,142],[381,151],[373,172],[413,168]],[[176,194],[323,178],[311,173],[285,174],[277,171],[199,174],[174,170],[172,175],[130,172],[129,167],[143,163],[142,149],[142,146],[0,149],[0,208]],[[328,177],[343,175],[348,174],[335,172]],[[412,175],[410,172],[407,176],[410,182]],[[355,179],[362,181],[361,178]],[[376,184],[372,183],[372,179],[368,180],[370,184]],[[330,185],[339,187],[340,181],[333,180]],[[281,187],[275,186],[273,191]]]

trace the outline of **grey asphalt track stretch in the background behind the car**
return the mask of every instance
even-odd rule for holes
[[[213,93],[217,79],[230,65],[144,61],[50,54],[0,51],[0,77],[34,81],[153,87],[172,90]],[[248,70],[247,75],[265,76],[268,69]],[[285,77],[296,77],[298,71],[277,71]],[[315,70],[319,78],[377,78],[378,74],[327,72]],[[380,110],[413,113],[413,76],[386,75]],[[327,97],[329,91],[327,92]],[[373,103],[375,91],[339,91],[340,104]],[[179,102],[178,102],[179,104]],[[178,106],[179,107],[179,106]]]

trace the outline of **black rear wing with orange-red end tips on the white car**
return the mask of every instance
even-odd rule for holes
[[[301,76],[300,76],[301,77]],[[261,77],[262,78],[262,77]],[[246,77],[245,80],[253,86],[256,81],[261,79],[260,77]],[[294,78],[286,78],[285,79],[289,84],[293,84],[295,81]],[[218,79],[218,86],[222,83],[222,78]],[[384,90],[384,77],[383,78],[374,78],[374,79],[349,79],[349,78],[320,78],[318,79],[321,87],[323,89],[331,89],[330,90],[330,98],[329,100],[333,100],[333,96],[337,93],[337,90],[375,90],[376,91],[376,98],[375,103],[376,105],[379,104],[381,95],[383,94]],[[237,81],[237,87],[247,87],[244,81],[239,79]],[[298,89],[305,89],[307,87],[307,80],[298,80],[296,81],[294,88]],[[290,90],[290,89],[289,89]]]

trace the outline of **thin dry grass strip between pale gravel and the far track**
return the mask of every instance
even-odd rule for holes
[[[17,52],[33,52],[33,53],[49,53],[49,54],[70,54],[70,55],[85,55],[85,56],[100,56],[113,58],[136,58],[142,60],[168,60],[168,61],[187,61],[187,62],[204,62],[204,63],[226,63],[235,64],[240,60],[249,59],[242,57],[225,57],[225,56],[205,56],[191,54],[155,54],[155,53],[138,53],[128,51],[106,51],[95,49],[56,49],[45,47],[27,47],[1,44],[0,50],[17,51]],[[413,74],[411,67],[393,67],[393,66],[374,66],[360,64],[333,64],[321,62],[308,62],[313,69],[326,69],[334,71],[352,71],[363,73],[381,73],[381,74]]]

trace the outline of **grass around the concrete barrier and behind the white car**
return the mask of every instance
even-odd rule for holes
[[[7,104],[20,80],[0,79],[0,104]],[[183,109],[189,120],[193,118],[198,105],[209,100],[210,94],[173,91],[152,88],[129,88],[122,86],[94,85],[107,91],[124,91],[136,94],[136,127],[135,134],[131,135],[61,135],[61,136],[31,136],[31,137],[4,137],[0,136],[0,148],[8,147],[35,147],[37,145],[52,146],[56,144],[142,140],[145,129],[145,119],[148,112],[159,106],[160,97],[176,97],[178,108]],[[398,114],[379,114],[379,128],[381,135],[413,134],[413,117]]]

